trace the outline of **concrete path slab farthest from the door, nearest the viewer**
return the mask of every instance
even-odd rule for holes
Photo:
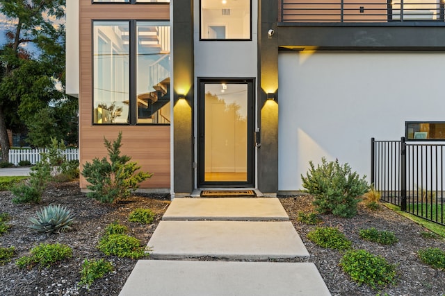
[[[328,296],[314,263],[140,260],[120,296]]]

